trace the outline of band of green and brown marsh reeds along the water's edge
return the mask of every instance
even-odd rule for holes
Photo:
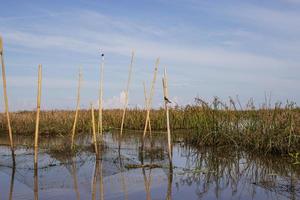
[[[74,115],[75,111],[67,110],[41,112],[40,133],[71,134]],[[15,112],[11,118],[16,134],[34,133],[35,112]],[[91,133],[90,118],[88,110],[79,111],[78,133]],[[166,130],[163,108],[151,110],[150,118],[152,130]],[[145,110],[128,109],[124,129],[143,130],[145,119]],[[121,121],[121,109],[103,110],[105,130],[118,129]],[[214,98],[211,103],[196,98],[193,105],[170,108],[170,124],[172,130],[186,130],[188,142],[199,146],[230,145],[264,153],[300,152],[300,109],[292,102],[276,103],[272,108],[267,104],[256,108],[250,100],[242,108],[232,99],[226,104],[219,98]],[[0,133],[5,131],[5,116],[0,114]]]

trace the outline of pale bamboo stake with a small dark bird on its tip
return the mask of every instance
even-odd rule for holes
[[[104,54],[102,56],[102,63],[100,67],[100,83],[99,83],[99,102],[98,102],[98,136],[102,137],[103,123],[102,123],[102,109],[103,109],[103,69],[104,69]]]

